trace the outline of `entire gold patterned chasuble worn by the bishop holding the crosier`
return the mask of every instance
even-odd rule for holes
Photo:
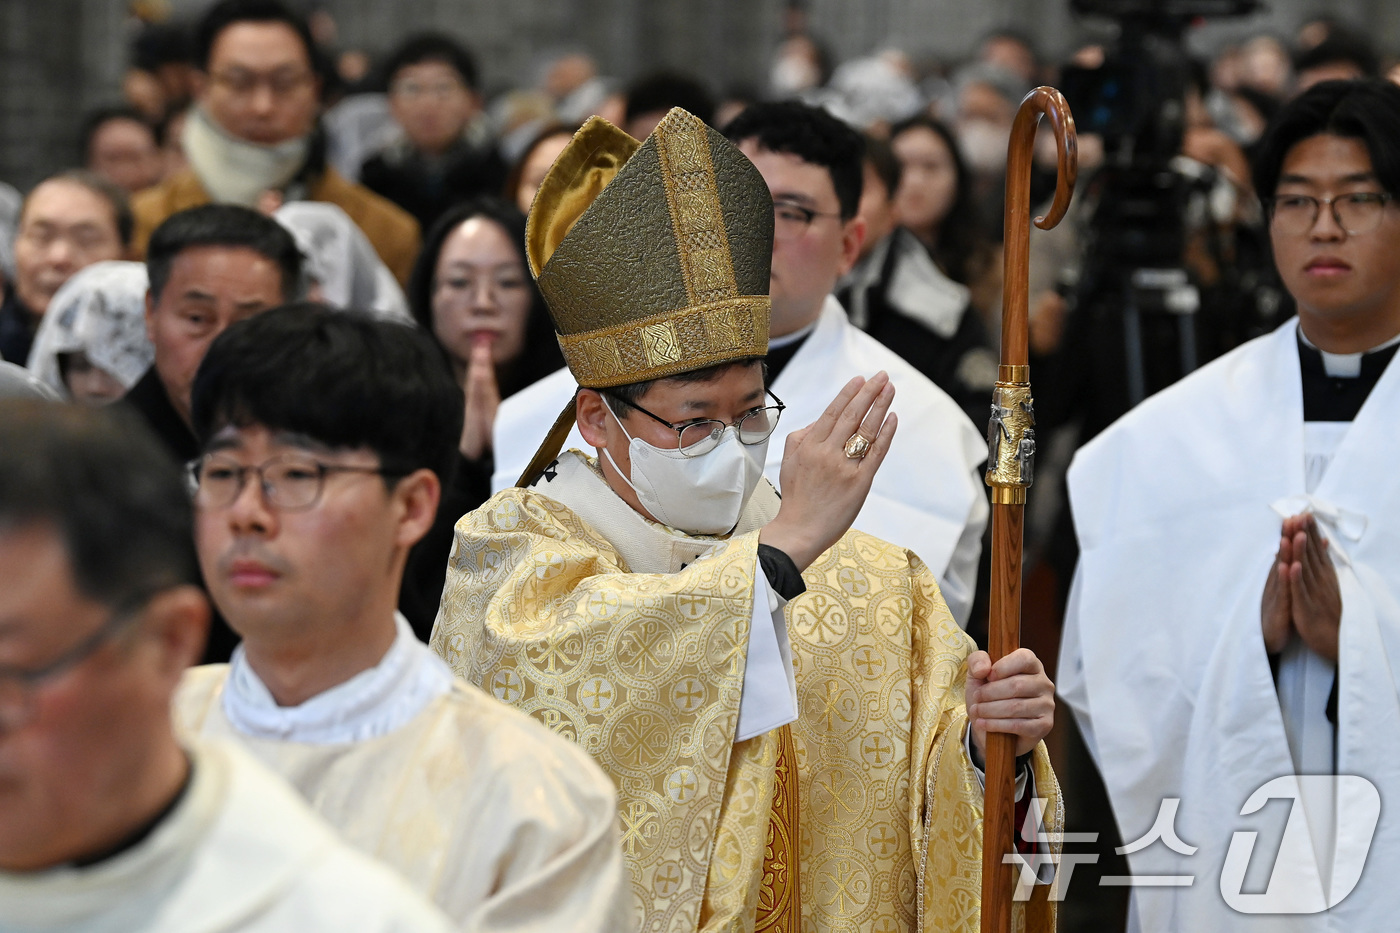
[[[465,516],[431,644],[617,782],[636,929],[976,932],[973,643],[918,558],[851,531],[804,573],[785,609],[798,720],[784,749],[784,730],[734,744],[757,535],[631,574],[596,523],[519,488]],[[778,768],[794,763],[785,794]],[[1053,913],[1028,926],[1018,908],[1015,925],[1049,930]]]

